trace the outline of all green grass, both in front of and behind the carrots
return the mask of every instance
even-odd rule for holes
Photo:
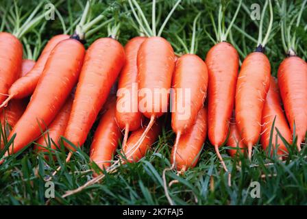
[[[227,1],[223,1],[224,3]],[[254,1],[244,1],[245,6]],[[263,1],[258,1],[263,5]],[[95,1],[93,14],[97,14],[110,5],[111,1]],[[110,14],[116,14],[122,22],[119,41],[125,44],[132,36],[138,33],[134,30],[134,25],[129,14],[121,14],[125,7],[121,5],[124,1],[115,1]],[[273,2],[274,3],[274,2]],[[85,1],[63,1],[58,6],[60,14],[66,27],[71,26],[73,21],[82,13],[82,6]],[[147,2],[144,3],[149,4]],[[160,5],[161,6],[160,6]],[[19,1],[21,5],[21,1]],[[149,4],[150,5],[150,4]],[[171,8],[173,1],[157,3],[159,8]],[[178,8],[169,25],[164,31],[164,37],[173,43],[176,53],[181,53],[183,48],[177,42],[174,34],[182,37],[189,45],[191,38],[191,26],[197,12],[202,11],[199,25],[197,25],[197,54],[204,57],[208,49],[212,47],[212,42],[206,36],[205,30],[214,36],[210,17],[208,13],[214,14],[216,5],[211,1],[183,1],[182,5],[187,8]],[[5,8],[5,3],[2,5]],[[33,9],[35,1],[30,1],[23,5],[23,10]],[[299,8],[299,2],[294,8]],[[249,7],[247,7],[249,8]],[[236,9],[236,3],[228,3],[226,21],[231,20],[231,16]],[[245,8],[246,9],[246,8]],[[69,13],[71,12],[71,13]],[[231,12],[228,14],[228,12]],[[164,13],[164,12],[163,12]],[[162,18],[164,14],[162,13]],[[295,12],[293,12],[294,14]],[[145,8],[145,14],[150,15],[151,9]],[[216,14],[214,14],[216,15]],[[1,16],[1,14],[0,14]],[[93,15],[94,16],[94,15]],[[245,37],[241,32],[257,38],[257,22],[249,21],[249,16],[245,10],[240,10],[236,25],[241,31],[232,29],[232,40],[236,42],[236,47],[240,48],[241,60],[244,55],[253,51],[255,43]],[[244,20],[244,22],[243,22]],[[264,27],[267,27],[269,18],[266,18]],[[306,22],[306,14],[302,18],[303,24]],[[272,74],[276,75],[278,65],[284,58],[282,42],[280,40],[280,29],[278,28],[280,15],[274,5],[273,33],[267,45],[267,55],[272,64]],[[184,25],[183,25],[184,24]],[[40,31],[42,40],[49,39],[54,34],[62,32],[60,21],[47,22],[45,29],[36,28]],[[1,26],[1,25],[0,25]],[[70,30],[72,34],[72,29]],[[87,39],[86,46],[96,38],[106,36],[106,28],[102,28],[97,34]],[[306,33],[300,27],[297,37],[302,40],[302,48],[306,51]],[[27,35],[29,45],[35,47],[36,33]],[[299,55],[304,53],[299,52]],[[306,58],[306,57],[305,57]],[[91,166],[89,164],[88,152],[90,142],[95,132],[93,129],[88,135],[88,139],[82,149],[79,149],[71,159],[71,162],[64,164],[66,152],[64,149],[56,152],[57,162],[53,159],[46,160],[42,155],[34,153],[32,146],[29,146],[19,155],[12,155],[7,162],[0,166],[0,205],[167,205],[168,201],[162,186],[162,171],[169,167],[169,157],[171,146],[173,145],[174,134],[170,131],[169,115],[163,125],[163,132],[159,140],[151,147],[147,155],[136,164],[125,164],[118,170],[95,185],[91,185],[86,190],[72,196],[61,198],[67,190],[73,190],[92,179]],[[272,138],[273,139],[273,138]],[[177,179],[178,183],[171,185],[169,193],[173,202],[177,205],[306,205],[307,204],[307,150],[302,146],[302,151],[297,152],[295,146],[289,147],[289,155],[282,162],[278,157],[268,157],[262,151],[260,145],[254,148],[254,154],[249,161],[246,157],[239,156],[231,158],[225,153],[227,148],[221,149],[225,163],[232,172],[232,186],[228,186],[228,175],[214,153],[213,147],[207,141],[201,152],[199,163],[192,170],[187,170],[184,175],[177,176],[175,172],[167,172],[167,181]],[[55,198],[45,198],[45,187],[48,176],[52,174],[58,166],[62,170],[51,180],[55,185]],[[252,198],[251,182],[260,183],[260,198]]]

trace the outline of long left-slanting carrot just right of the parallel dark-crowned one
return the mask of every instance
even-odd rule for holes
[[[86,51],[73,108],[64,132],[64,137],[75,146],[84,144],[123,64],[125,51],[121,44],[112,38],[100,38]],[[75,151],[71,145],[65,145]]]

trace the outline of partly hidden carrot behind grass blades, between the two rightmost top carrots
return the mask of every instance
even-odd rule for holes
[[[280,99],[280,91],[278,88],[278,81],[275,80],[273,76],[271,76],[270,81],[270,88],[269,92],[267,93],[267,99],[265,100],[265,105],[262,110],[262,130],[261,130],[261,138],[260,142],[262,144],[262,148],[264,150],[267,149],[269,146],[271,128],[273,125],[273,121],[275,118],[274,130],[273,130],[273,139],[272,139],[272,146],[275,149],[275,142],[277,139],[278,143],[278,155],[285,155],[288,152],[284,142],[280,136],[278,136],[278,131],[287,142],[291,142],[291,131],[288,127],[288,123],[286,121],[286,116],[284,116],[284,112],[282,111],[281,106],[282,100]]]

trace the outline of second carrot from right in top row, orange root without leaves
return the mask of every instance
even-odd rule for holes
[[[247,55],[241,66],[236,85],[236,125],[248,156],[261,133],[262,109],[270,86],[271,65],[259,51]]]

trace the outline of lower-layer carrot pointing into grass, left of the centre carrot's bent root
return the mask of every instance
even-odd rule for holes
[[[113,99],[101,117],[90,146],[90,161],[95,162],[102,170],[110,166],[121,140],[121,130],[117,126],[115,113],[116,99]]]

